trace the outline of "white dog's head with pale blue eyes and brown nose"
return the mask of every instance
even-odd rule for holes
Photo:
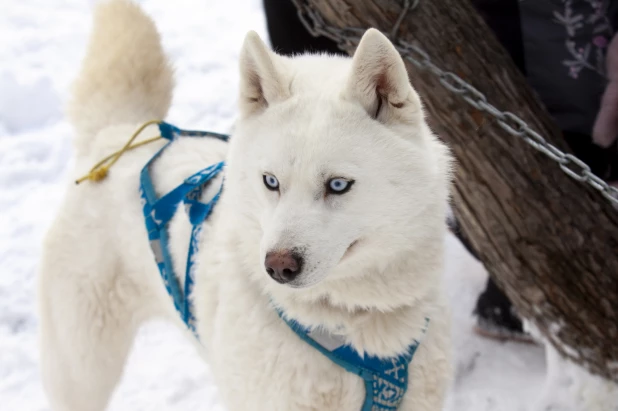
[[[240,69],[226,184],[258,227],[265,277],[303,288],[355,275],[444,225],[448,150],[384,35],[367,31],[349,59],[282,57],[249,33]]]

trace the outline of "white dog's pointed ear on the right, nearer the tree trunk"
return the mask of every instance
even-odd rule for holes
[[[358,44],[344,96],[359,102],[383,123],[414,123],[423,117],[420,98],[410,85],[401,55],[376,29],[367,30]]]

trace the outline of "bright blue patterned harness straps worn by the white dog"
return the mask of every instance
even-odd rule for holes
[[[208,203],[202,203],[199,199],[204,188],[223,170],[225,164],[220,162],[198,171],[161,198],[157,198],[155,193],[154,185],[150,178],[150,166],[180,136],[213,137],[222,141],[228,141],[229,137],[207,131],[181,130],[165,122],[159,124],[159,130],[161,131],[161,136],[167,139],[168,143],[146,163],[140,173],[140,195],[144,220],[150,246],[159,267],[161,278],[165,283],[165,288],[171,296],[182,320],[197,337],[191,299],[195,278],[195,255],[199,245],[202,223],[208,218],[219,200],[223,185],[221,185],[219,191]],[[185,269],[184,290],[174,273],[168,249],[169,236],[167,233],[167,224],[174,216],[176,208],[181,202],[185,205],[185,211],[193,227]],[[408,347],[408,350],[397,357],[378,358],[369,355],[360,356],[351,346],[345,343],[342,336],[330,334],[319,328],[305,328],[297,321],[287,318],[279,308],[275,308],[275,310],[300,339],[346,371],[356,374],[363,379],[365,382],[365,402],[361,411],[397,410],[408,389],[408,366],[420,345],[420,341],[414,340]],[[426,318],[423,334],[428,326],[429,319]]]

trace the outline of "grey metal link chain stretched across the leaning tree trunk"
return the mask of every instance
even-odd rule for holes
[[[306,0],[292,0],[298,10],[298,16],[307,28],[307,30],[315,37],[324,36],[333,40],[339,48],[343,50],[352,49],[360,41],[365,29],[362,28],[338,28],[325,23],[322,16],[307,3]],[[410,7],[409,2],[405,3],[404,10],[397,19],[401,24],[403,16],[409,10],[415,8],[419,0],[414,1],[414,5]],[[309,22],[311,21],[312,24]],[[399,28],[399,24],[395,27]],[[394,34],[395,30],[392,32]],[[475,109],[485,112],[497,120],[498,125],[512,136],[523,139],[531,147],[540,151],[545,156],[558,163],[558,166],[569,177],[581,182],[587,183],[594,189],[598,190],[603,197],[618,209],[618,189],[610,186],[600,177],[592,173],[590,167],[582,160],[572,154],[565,153],[558,147],[548,143],[543,136],[534,131],[528,124],[517,115],[502,111],[487,101],[487,97],[468,82],[463,80],[457,74],[450,71],[442,70],[436,66],[429,55],[420,47],[410,44],[403,40],[398,40],[395,48],[399,51],[402,57],[414,64],[421,70],[427,70],[438,77],[444,88],[459,95]]]

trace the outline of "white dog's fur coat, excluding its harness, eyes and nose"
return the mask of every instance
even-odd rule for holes
[[[346,336],[360,352],[394,356],[429,331],[410,367],[401,410],[439,410],[451,373],[440,291],[450,155],[427,127],[401,57],[376,30],[353,59],[278,56],[255,33],[241,53],[240,119],[229,145],[174,143],[153,167],[159,195],[226,159],[225,189],[204,227],[195,288],[198,332],[229,410],[359,410],[362,380],[301,341],[271,299],[308,326]],[[98,7],[70,114],[75,176],[121,147],[136,126],[164,118],[172,70],[138,6]],[[182,125],[181,125],[182,126]],[[149,127],[144,138],[156,135]],[[126,154],[99,183],[71,186],[44,247],[41,362],[54,410],[102,410],[145,320],[180,323],[144,228],[138,175],[163,143]],[[266,189],[275,175],[280,192]],[[336,196],[329,178],[354,179]],[[216,187],[207,190],[212,196]],[[190,226],[170,224],[184,272]],[[288,285],[265,253],[300,249]]]

